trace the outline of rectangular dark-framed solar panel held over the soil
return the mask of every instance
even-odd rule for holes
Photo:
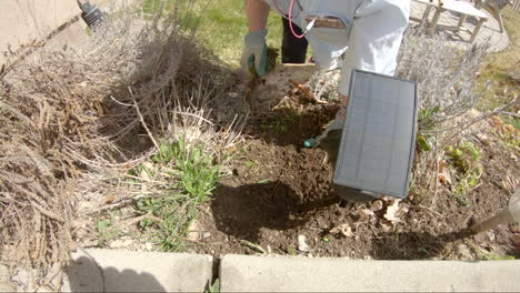
[[[336,188],[354,201],[379,194],[407,198],[417,110],[416,82],[353,70],[333,176]]]

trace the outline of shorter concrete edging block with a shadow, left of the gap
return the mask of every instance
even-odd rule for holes
[[[213,259],[202,254],[83,250],[72,255],[64,292],[202,292]]]

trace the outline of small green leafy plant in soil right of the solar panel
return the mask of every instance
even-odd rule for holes
[[[483,166],[480,162],[481,151],[471,142],[462,142],[456,146],[450,145],[446,150],[446,159],[457,171],[458,182],[454,186],[457,201],[468,204],[467,194],[479,184]]]

